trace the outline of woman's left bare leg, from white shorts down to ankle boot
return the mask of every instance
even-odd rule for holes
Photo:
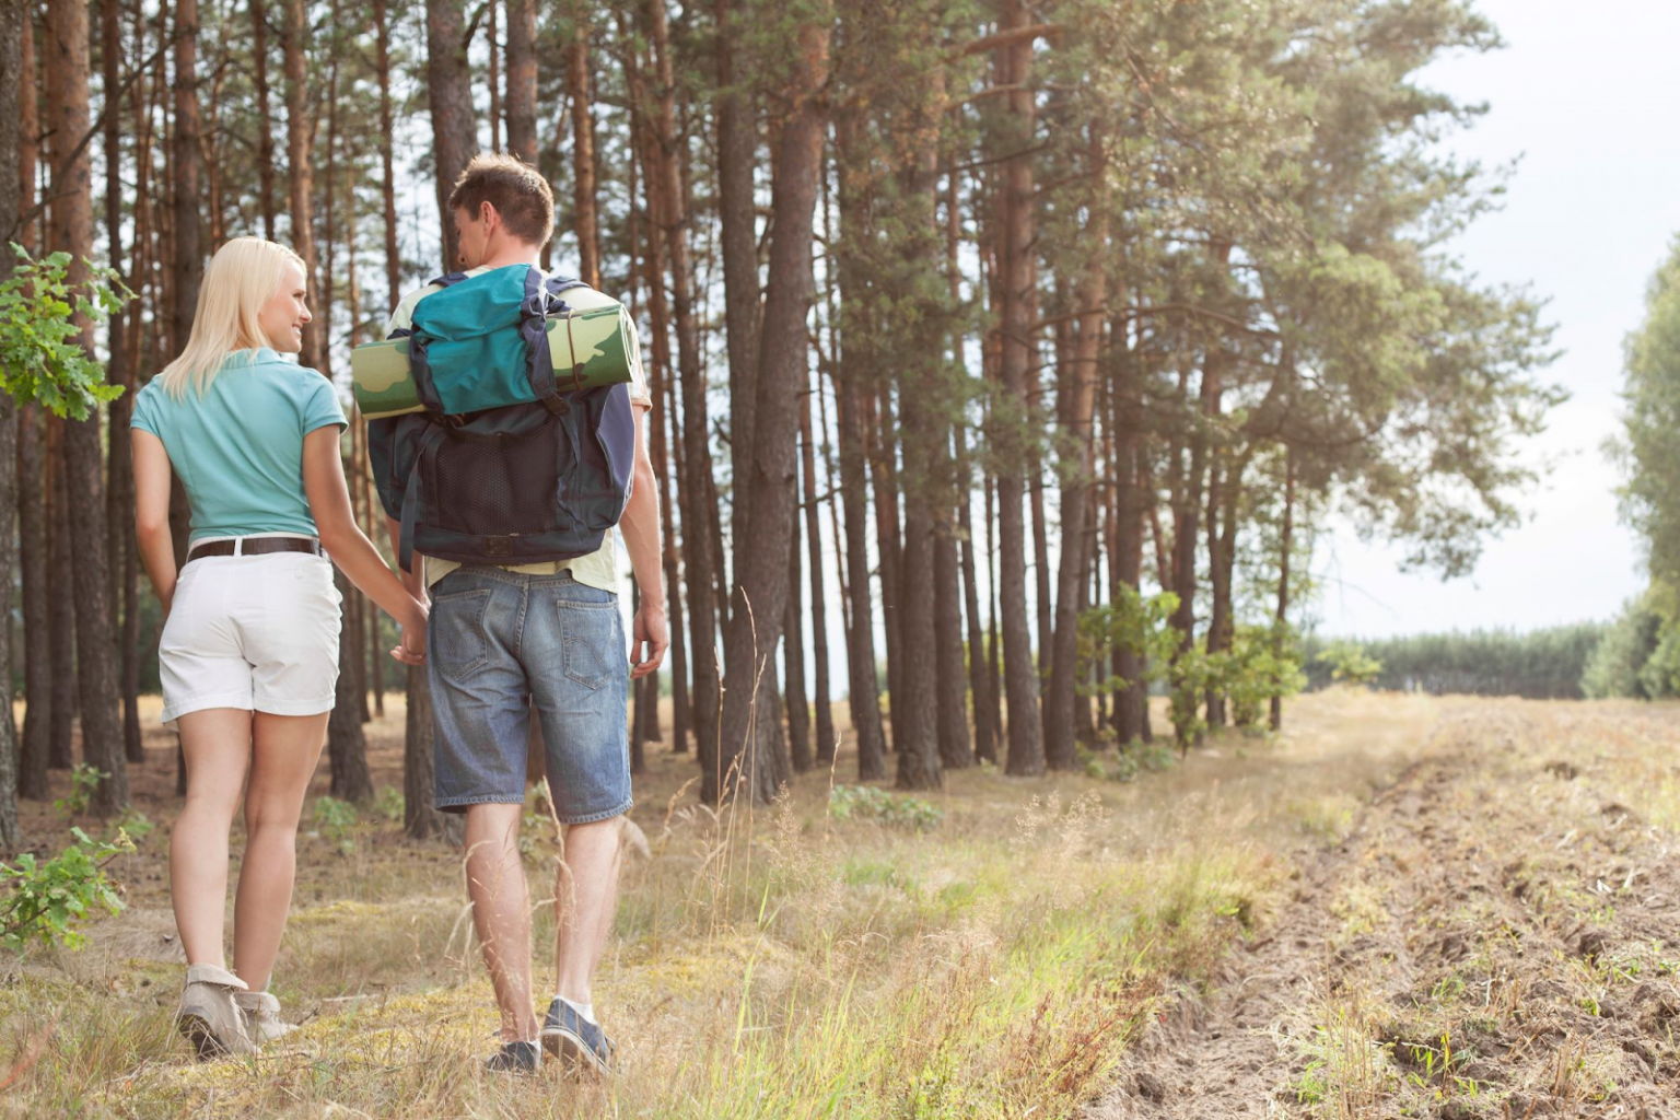
[[[186,804],[170,830],[170,898],[186,964],[227,967],[227,835],[250,762],[250,712],[188,712],[176,727],[186,759]]]

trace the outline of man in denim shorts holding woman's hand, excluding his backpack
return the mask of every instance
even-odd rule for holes
[[[449,198],[467,275],[536,265],[554,227],[546,180],[512,156],[479,154]],[[407,331],[408,294],[386,327]],[[627,693],[665,657],[665,586],[659,497],[647,452],[645,385],[632,385],[635,463],[620,529],[642,593],[632,657],[618,620],[618,556],[608,531],[600,551],[571,561],[462,568],[415,554],[417,598],[432,594],[428,680],[437,729],[437,806],[465,813],[467,890],[484,962],[501,1006],[501,1048],[487,1068],[533,1073],[543,1053],[568,1068],[605,1073],[613,1043],[595,1021],[590,982],[613,924],[620,816],[630,809]],[[391,539],[400,534],[391,522]],[[554,883],[554,997],[541,1026],[533,1011],[531,912],[519,860],[526,739],[533,710],[546,741],[546,772],[563,824],[564,865]]]

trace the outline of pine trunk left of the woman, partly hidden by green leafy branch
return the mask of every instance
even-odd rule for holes
[[[192,3],[192,0],[186,0]],[[197,27],[197,18],[193,20]],[[52,0],[47,5],[47,99],[50,126],[59,138],[84,136],[87,109],[89,40],[87,5]],[[55,141],[52,245],[71,254],[71,280],[87,275],[92,255],[94,215],[87,151],[62,151]],[[92,353],[92,327],[81,322],[81,344]],[[64,465],[69,489],[71,541],[76,547],[77,688],[82,717],[82,757],[109,774],[94,789],[92,809],[109,814],[128,804],[128,764],[123,756],[123,722],[116,695],[116,633],[111,625],[111,564],[104,526],[104,442],[99,411],[72,420],[64,432]]]

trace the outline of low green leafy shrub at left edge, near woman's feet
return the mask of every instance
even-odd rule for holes
[[[81,949],[86,939],[76,925],[89,910],[123,910],[123,898],[104,868],[133,851],[134,841],[121,830],[109,841],[92,840],[79,828],[72,828],[71,836],[76,843],[45,863],[37,863],[32,851],[20,855],[17,866],[0,863],[0,880],[10,883],[0,902],[0,945],[5,949],[17,952],[32,944]]]

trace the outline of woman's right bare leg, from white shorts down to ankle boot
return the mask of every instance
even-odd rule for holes
[[[281,950],[297,878],[297,816],[326,746],[328,712],[257,712],[245,793],[245,863],[234,902],[234,971],[260,992]]]

